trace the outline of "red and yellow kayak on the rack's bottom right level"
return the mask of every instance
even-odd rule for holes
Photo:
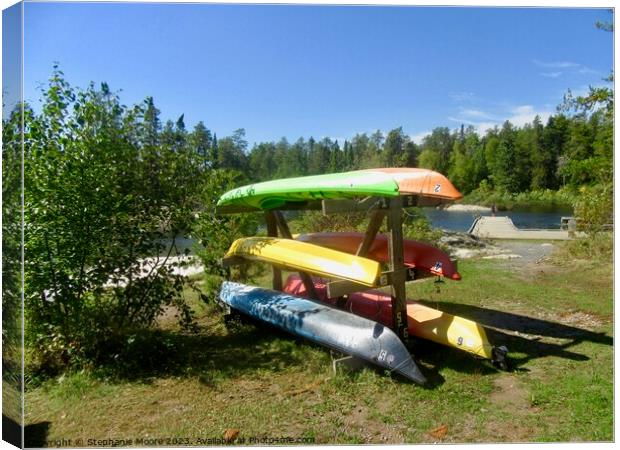
[[[317,278],[313,281],[319,300],[327,304],[335,304],[336,299],[327,297],[325,282]],[[284,291],[293,295],[305,295],[305,287],[295,275],[288,277]],[[381,291],[370,290],[349,294],[344,309],[386,326],[392,326],[391,297]],[[472,320],[409,300],[407,301],[407,323],[411,336],[458,348],[482,358],[494,359],[494,347],[489,343],[484,328]]]

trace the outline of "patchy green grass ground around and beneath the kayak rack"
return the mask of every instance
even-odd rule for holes
[[[410,298],[489,327],[510,349],[510,372],[425,342],[417,357],[428,388],[368,368],[334,374],[328,350],[265,327],[227,329],[215,307],[192,297],[199,331],[184,334],[162,319],[152,336],[167,342],[160,361],[133,374],[104,368],[29,387],[34,444],[205,445],[198,439],[230,429],[246,444],[610,441],[611,264],[511,264],[463,261],[463,280],[440,293],[432,281],[408,286]]]

